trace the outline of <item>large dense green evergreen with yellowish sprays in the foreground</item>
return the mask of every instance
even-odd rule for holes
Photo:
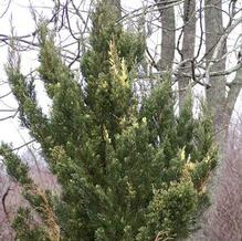
[[[192,117],[189,95],[175,115],[169,77],[138,108],[134,73],[145,43],[140,33],[124,31],[117,17],[107,0],[93,13],[92,48],[81,62],[85,87],[42,25],[39,73],[53,101],[50,116],[36,103],[33,80],[10,55],[7,73],[21,123],[41,144],[62,188],[60,197],[38,189],[11,147],[1,146],[8,174],[30,203],[15,218],[17,240],[180,239],[208,201],[206,186],[217,163],[212,123],[204,113]]]

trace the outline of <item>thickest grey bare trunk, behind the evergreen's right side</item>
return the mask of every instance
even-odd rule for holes
[[[206,52],[207,66],[209,65],[214,46],[219,39],[224,33],[222,20],[222,0],[206,0],[204,1],[204,22],[206,22]],[[227,52],[227,43],[220,49],[218,60]],[[225,70],[225,59],[215,62],[211,71]],[[225,112],[225,77],[213,76],[209,78],[210,87],[207,88],[208,106],[213,114],[214,132],[217,140],[223,149],[224,137],[227,133],[228,117]]]

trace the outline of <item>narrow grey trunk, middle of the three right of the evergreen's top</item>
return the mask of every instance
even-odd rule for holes
[[[181,48],[181,61],[193,59],[196,41],[196,0],[185,0],[183,3],[183,41]],[[188,61],[181,65],[182,73],[192,74],[192,62]],[[185,95],[189,85],[189,77],[179,76],[179,111],[182,109]]]

